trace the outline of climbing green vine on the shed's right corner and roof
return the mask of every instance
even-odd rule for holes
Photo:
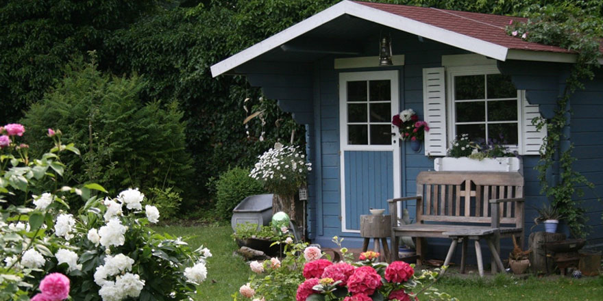
[[[600,2],[600,1],[597,1]],[[571,151],[574,145],[563,147],[563,140],[569,139],[563,134],[571,114],[569,99],[576,90],[584,88],[585,80],[593,79],[598,60],[602,57],[600,43],[603,37],[603,19],[599,5],[589,5],[585,1],[564,2],[561,5],[532,5],[524,12],[526,23],[511,23],[507,32],[511,36],[530,42],[549,44],[576,51],[576,64],[571,66],[566,79],[565,90],[557,100],[557,107],[550,120],[533,120],[542,129],[546,127],[547,137],[541,148],[541,159],[536,166],[539,172],[541,192],[552,198],[552,205],[567,220],[572,235],[585,237],[588,233],[584,208],[574,200],[584,192],[578,185],[593,188],[594,185],[584,175],[572,168],[576,161]],[[552,181],[547,173],[558,161],[558,179]]]

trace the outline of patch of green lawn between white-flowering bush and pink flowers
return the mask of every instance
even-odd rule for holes
[[[232,293],[238,291],[249,278],[249,265],[242,257],[233,256],[237,246],[230,237],[232,228],[228,226],[161,226],[154,227],[159,233],[188,236],[186,239],[193,249],[201,245],[212,252],[208,260],[208,278],[199,285],[195,300],[227,301],[232,300]],[[283,300],[284,301],[284,300]]]

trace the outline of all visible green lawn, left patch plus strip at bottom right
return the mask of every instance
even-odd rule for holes
[[[177,236],[194,236],[188,243],[197,248],[210,248],[213,257],[208,264],[208,278],[199,286],[196,300],[232,300],[232,293],[247,282],[251,271],[241,257],[234,256],[236,244],[228,226],[163,226],[156,231]],[[582,279],[550,276],[547,278],[514,278],[499,274],[490,278],[461,277],[451,273],[436,284],[439,291],[458,300],[603,300],[603,276]],[[421,300],[423,300],[421,298]],[[268,300],[269,301],[269,300]],[[290,300],[277,300],[290,301]]]

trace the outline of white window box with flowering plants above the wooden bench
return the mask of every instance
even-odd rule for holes
[[[471,141],[462,134],[448,148],[447,157],[434,160],[436,171],[522,172],[521,158],[510,152],[503,138]]]

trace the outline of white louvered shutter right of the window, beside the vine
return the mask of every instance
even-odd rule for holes
[[[526,99],[525,91],[521,91],[521,102],[523,107],[521,108],[521,121],[523,126],[523,152],[520,155],[540,155],[540,148],[543,144],[543,140],[546,137],[546,127],[540,129],[532,125],[534,118],[542,118],[539,106],[530,105],[528,99]]]

